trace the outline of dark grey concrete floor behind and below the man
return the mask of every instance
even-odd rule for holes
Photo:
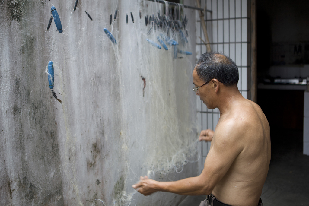
[[[272,158],[262,191],[263,206],[309,206],[309,156],[303,132],[273,130]],[[178,206],[198,206],[206,196],[187,196]]]

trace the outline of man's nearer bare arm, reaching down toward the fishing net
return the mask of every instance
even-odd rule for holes
[[[243,130],[239,127],[240,125],[234,122],[218,125],[205,160],[204,169],[199,176],[175,182],[158,182],[145,176],[141,177],[140,182],[132,187],[138,189],[144,195],[150,195],[156,191],[172,192],[180,195],[210,194],[243,149],[243,145],[239,141],[243,137]]]

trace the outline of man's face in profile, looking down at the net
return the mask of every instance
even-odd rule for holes
[[[192,77],[193,77],[193,84],[195,85],[195,87],[199,87],[205,84],[205,82],[199,78],[195,69],[193,70]],[[206,104],[207,108],[210,109],[211,95],[210,95],[209,85],[210,85],[210,82],[200,87],[198,89],[197,95],[200,96],[200,99],[203,101],[203,103]]]

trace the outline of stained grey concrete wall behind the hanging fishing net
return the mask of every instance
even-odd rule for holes
[[[80,0],[71,12],[73,4],[0,2],[0,205],[91,205],[95,199],[176,205],[181,195],[129,195],[140,175],[176,180],[198,174],[197,163],[168,176],[149,170],[150,163],[171,160],[182,149],[178,145],[185,149],[184,142],[197,138],[191,91],[195,13],[185,10],[193,36],[186,49],[193,55],[173,59],[171,48],[158,50],[145,40],[149,28],[138,13],[149,14],[150,2]],[[52,5],[67,27],[62,34],[54,22],[45,32]],[[103,28],[112,31],[109,14],[116,7],[114,45]],[[135,23],[126,25],[130,12]],[[44,73],[50,60],[62,103]]]

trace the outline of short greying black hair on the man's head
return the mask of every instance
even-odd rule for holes
[[[217,52],[204,53],[196,63],[195,70],[204,82],[217,79],[225,86],[235,86],[239,80],[237,65],[230,57]]]

